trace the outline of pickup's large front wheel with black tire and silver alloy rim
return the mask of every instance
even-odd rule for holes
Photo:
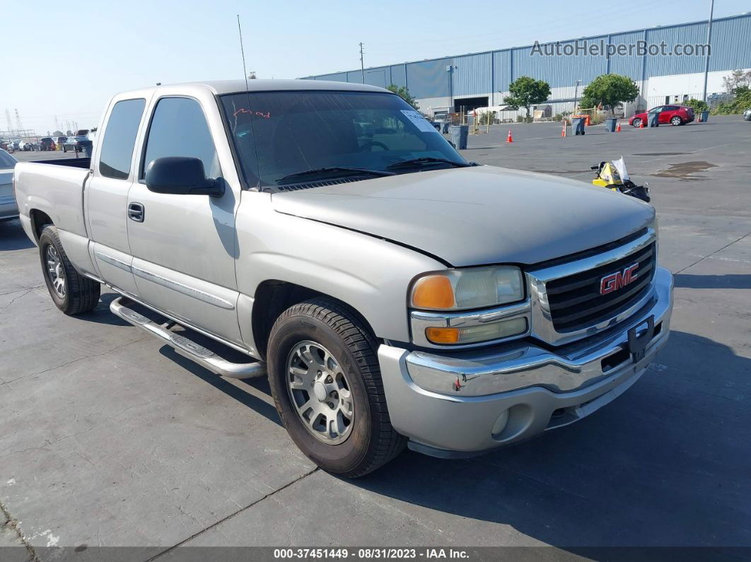
[[[322,356],[324,364],[330,365],[333,358],[334,365],[338,366],[323,374],[321,371],[316,374],[315,365],[318,363],[307,362],[307,366],[298,363],[303,368],[295,368],[298,371],[307,369],[310,378],[297,381],[298,377],[292,374],[290,365],[297,360],[295,351],[306,345],[307,353],[316,347],[330,353],[330,356]],[[271,329],[267,365],[276,410],[294,443],[327,472],[347,478],[364,476],[391,461],[406,444],[406,438],[394,430],[388,416],[375,351],[377,346],[375,338],[363,323],[345,306],[331,299],[311,299],[291,306],[279,316]],[[302,359],[305,354],[299,358]],[[337,380],[341,377],[347,389],[339,380],[341,395],[336,392],[324,394],[324,400],[315,394],[319,392],[318,385],[323,386],[322,383],[329,381],[331,377],[327,376],[327,372],[333,373],[337,368],[340,373],[334,376]],[[317,376],[319,378],[314,383]],[[293,378],[299,385],[298,389],[291,389]],[[313,390],[306,391],[308,386]],[[313,404],[330,413],[327,407],[339,407],[339,399],[343,409],[346,398],[342,397],[345,392],[348,392],[352,412],[349,425],[339,423],[343,429],[333,440],[330,439],[328,417],[324,425],[326,429],[314,431],[314,424],[304,420],[301,410],[306,404]],[[329,402],[329,395],[338,396],[332,399],[336,404]],[[298,405],[297,400],[303,402],[302,406]],[[309,413],[311,421],[318,416],[313,408],[309,412],[312,412]],[[336,439],[339,441],[336,442]]]

